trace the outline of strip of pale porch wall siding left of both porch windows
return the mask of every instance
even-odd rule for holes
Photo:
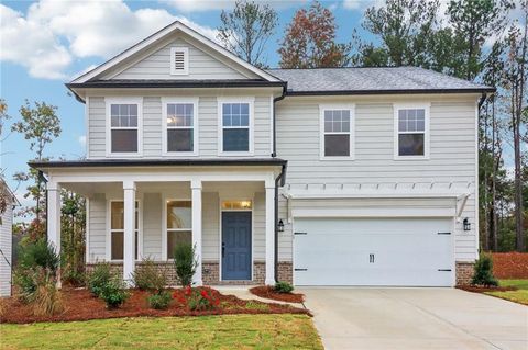
[[[89,262],[106,260],[107,247],[107,200],[103,193],[97,193],[90,199],[89,210]]]

